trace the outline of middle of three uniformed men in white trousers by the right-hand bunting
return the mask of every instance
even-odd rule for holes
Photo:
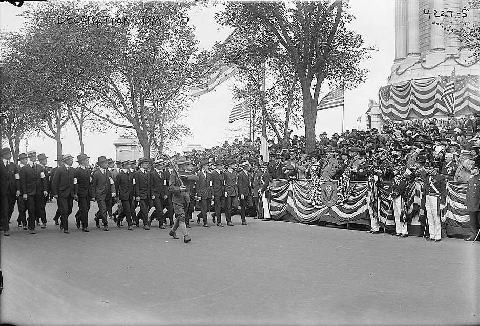
[[[408,237],[407,222],[401,219],[401,214],[402,211],[405,211],[405,203],[407,201],[407,195],[405,192],[407,188],[407,179],[405,177],[406,164],[407,162],[402,160],[395,167],[395,170],[393,171],[395,177],[390,183],[390,188],[388,189],[388,197],[392,201],[396,227],[396,232],[392,233],[392,235],[402,238]],[[404,218],[406,219],[406,216]]]

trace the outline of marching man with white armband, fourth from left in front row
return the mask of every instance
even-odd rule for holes
[[[88,230],[88,211],[90,210],[90,200],[95,201],[94,191],[90,182],[91,171],[88,168],[88,157],[86,154],[80,154],[77,156],[78,168],[75,170],[74,184],[74,197],[78,198],[78,210],[79,216],[76,217],[77,228],[81,231],[89,232]]]

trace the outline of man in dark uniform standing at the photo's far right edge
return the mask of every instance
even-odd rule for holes
[[[480,158],[473,159],[470,170],[473,177],[468,181],[465,206],[470,215],[470,236],[465,241],[474,241],[480,230]],[[477,237],[478,241],[478,237]]]

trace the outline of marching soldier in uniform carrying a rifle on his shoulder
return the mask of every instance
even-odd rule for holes
[[[180,156],[175,161],[175,164],[178,165],[178,174],[176,172],[172,173],[169,182],[169,190],[173,194],[172,202],[175,210],[175,222],[169,235],[174,239],[178,239],[175,231],[180,227],[183,233],[183,242],[189,243],[191,239],[186,231],[185,210],[187,210],[190,203],[190,184],[191,182],[197,182],[198,176],[190,172],[193,164],[192,161],[187,160],[185,157]]]

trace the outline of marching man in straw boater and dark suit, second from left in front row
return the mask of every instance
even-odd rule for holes
[[[43,168],[35,164],[37,154],[35,151],[27,152],[29,162],[20,169],[20,191],[26,201],[28,211],[28,229],[35,234],[35,217],[45,214],[45,197],[48,196],[47,177]],[[44,217],[45,218],[45,217]],[[45,223],[42,226],[45,228]]]

